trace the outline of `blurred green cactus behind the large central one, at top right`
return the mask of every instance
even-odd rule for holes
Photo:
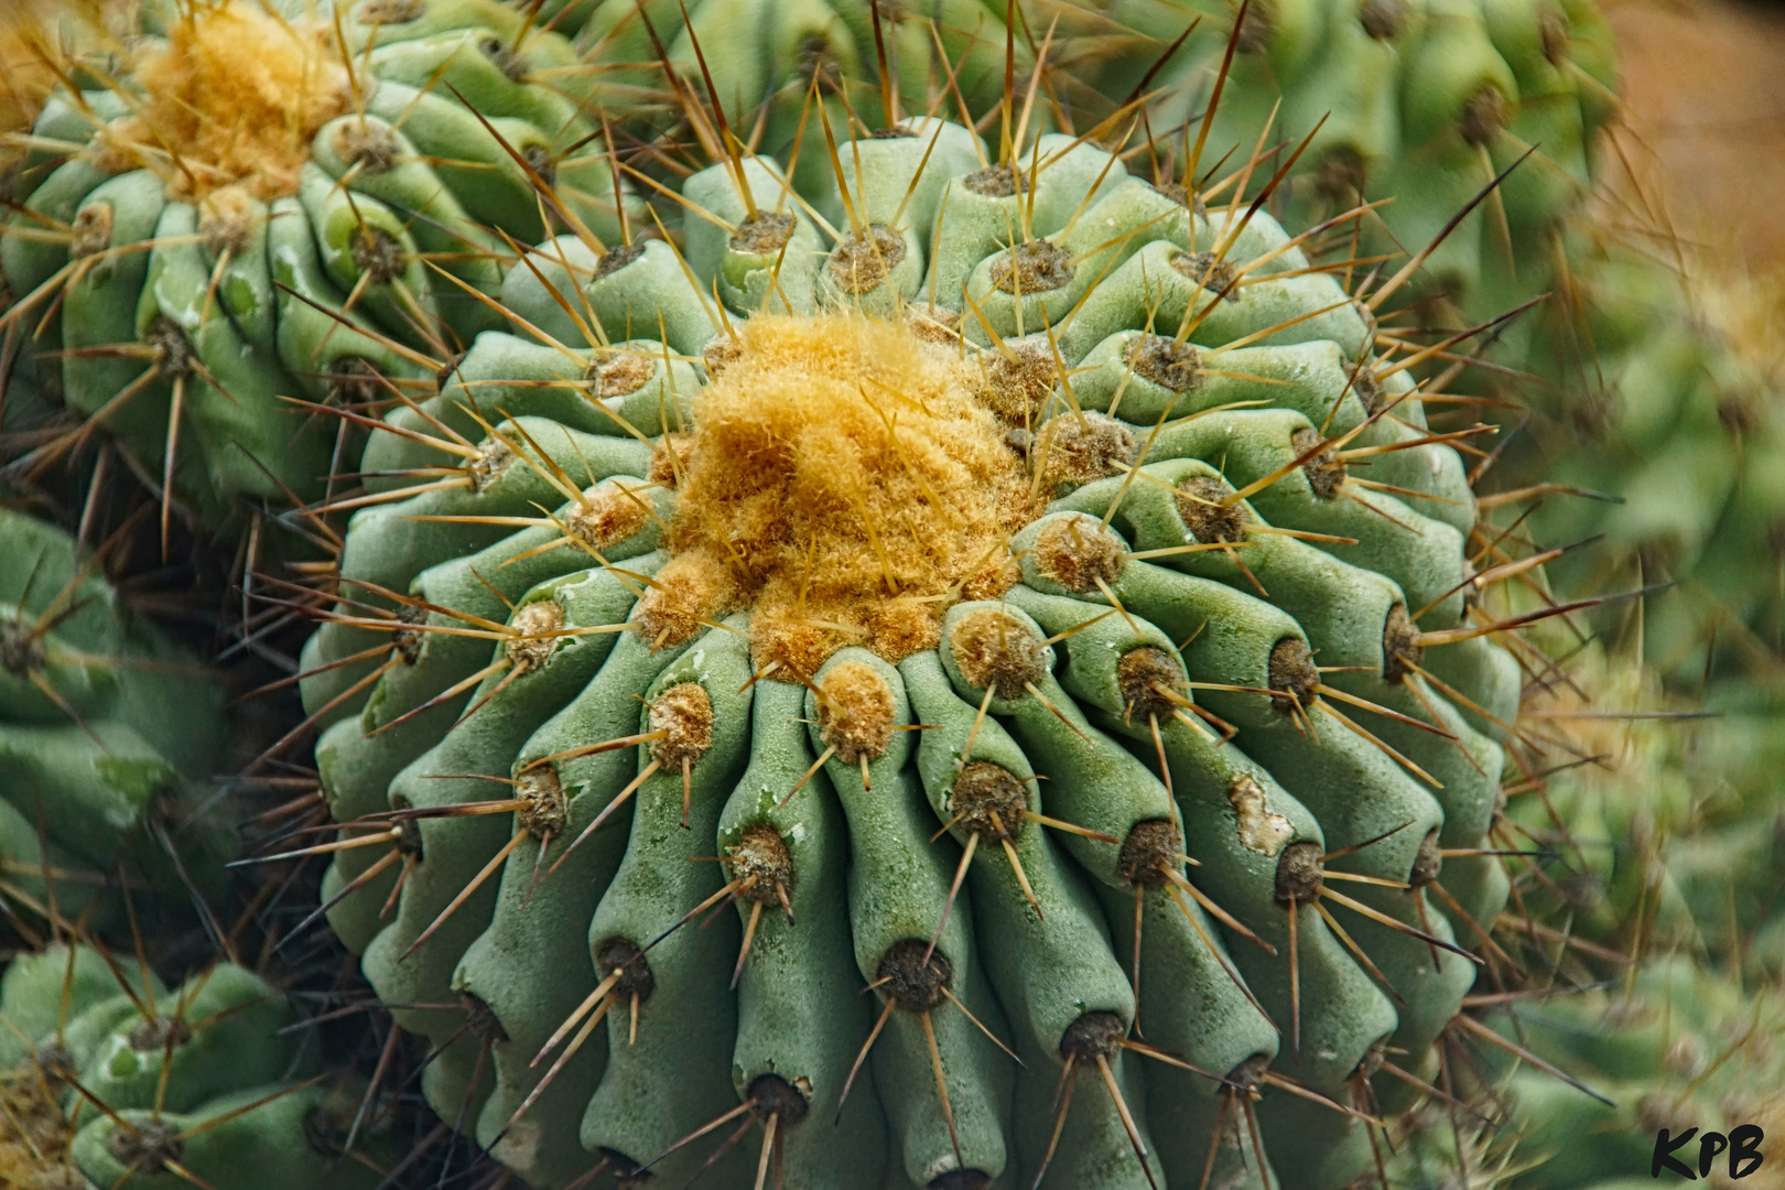
[[[1548,289],[1560,236],[1592,187],[1598,134],[1617,111],[1612,30],[1590,0],[1059,7],[1082,27],[1071,59],[1100,70],[1107,95],[1128,96],[1146,61],[1157,66],[1142,87],[1175,84],[1160,132],[1219,103],[1214,157],[1248,153],[1267,128],[1287,145],[1312,137],[1274,196],[1298,223],[1392,200],[1357,221],[1366,252],[1430,243],[1524,161],[1426,260],[1417,284],[1442,294],[1440,312],[1499,312]]]

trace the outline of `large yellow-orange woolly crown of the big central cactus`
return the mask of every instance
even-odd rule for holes
[[[757,316],[737,341],[680,450],[659,632],[750,608],[757,665],[803,676],[846,644],[934,648],[953,601],[1016,582],[1007,542],[1039,507],[955,353],[851,314]]]

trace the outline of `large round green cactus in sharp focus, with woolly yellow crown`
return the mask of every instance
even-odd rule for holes
[[[312,514],[339,837],[273,855],[534,1185],[1342,1186],[1512,1044],[1458,1006],[1583,605],[1426,421],[1467,335],[1382,344],[1439,244],[1348,294],[1348,219],[1041,75],[992,153],[884,66],[814,189],[671,70],[680,237],[523,257]]]

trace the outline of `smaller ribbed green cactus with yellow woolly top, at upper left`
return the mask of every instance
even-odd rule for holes
[[[205,523],[314,500],[348,450],[314,405],[389,400],[500,325],[503,234],[616,234],[580,62],[523,11],[146,0],[121,21],[75,57],[37,32],[57,87],[7,136],[5,373],[79,421],[9,417],[16,471],[104,428],[164,526],[175,496]]]

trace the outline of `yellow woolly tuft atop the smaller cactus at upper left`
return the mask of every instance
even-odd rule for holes
[[[295,194],[311,137],[353,107],[332,30],[245,0],[184,11],[134,75],[143,111],[107,128],[104,146],[164,173],[187,200],[225,186]]]

